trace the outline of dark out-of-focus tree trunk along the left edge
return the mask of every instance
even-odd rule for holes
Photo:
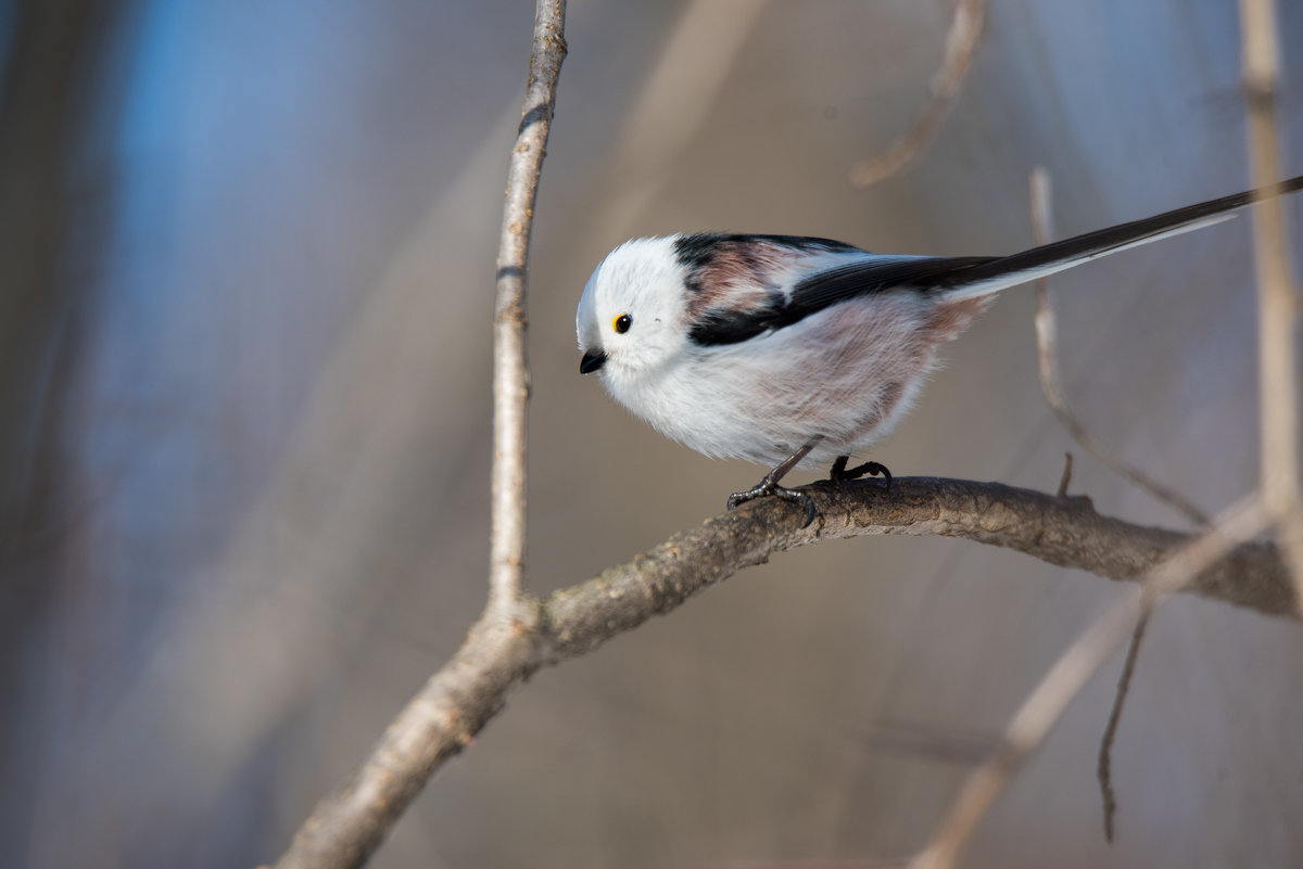
[[[77,520],[63,483],[63,398],[115,195],[106,159],[121,95],[113,57],[132,0],[25,0],[0,44],[0,842],[30,825],[53,730],[23,714],[43,689],[59,539]],[[3,29],[4,25],[0,25]],[[30,666],[25,666],[30,665]]]

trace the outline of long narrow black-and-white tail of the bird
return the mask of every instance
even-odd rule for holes
[[[1186,206],[1144,220],[1132,220],[1130,224],[1119,224],[1033,247],[1022,254],[988,260],[950,276],[950,280],[946,281],[949,284],[946,295],[955,301],[990,295],[1109,254],[1220,224],[1234,217],[1235,215],[1231,212],[1252,204],[1256,199],[1278,196],[1296,190],[1303,190],[1303,176],[1281,181],[1261,193],[1250,190],[1221,199],[1209,199],[1196,206]]]

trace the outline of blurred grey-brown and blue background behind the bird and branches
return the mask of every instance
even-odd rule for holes
[[[1281,3],[1303,172],[1303,4]],[[274,860],[485,597],[490,316],[524,0],[0,3],[0,852],[13,866]],[[719,513],[762,468],[662,440],[577,373],[573,310],[631,235],[1029,245],[1248,186],[1230,0],[992,0],[936,140],[943,0],[571,4],[530,276],[536,592]],[[1300,198],[1291,203],[1295,228]],[[1295,241],[1303,241],[1294,230]],[[1065,386],[1214,513],[1257,467],[1248,221],[1053,280]],[[1186,527],[1081,454],[1029,289],[947,350],[873,457]],[[520,691],[374,860],[861,865],[921,846],[967,768],[1121,593],[949,540],[775,557]],[[982,825],[967,866],[1303,864],[1303,631],[1160,611]],[[883,734],[921,735],[923,748]],[[930,747],[929,747],[930,745]]]

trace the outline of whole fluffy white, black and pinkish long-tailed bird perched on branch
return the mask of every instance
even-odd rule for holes
[[[1303,189],[1303,176],[1272,193]],[[797,464],[834,480],[909,410],[937,349],[1010,286],[1229,220],[1240,193],[1012,256],[895,256],[826,238],[693,233],[611,251],[575,316],[581,373],[661,433],[710,457],[774,466],[728,506],[774,494]]]

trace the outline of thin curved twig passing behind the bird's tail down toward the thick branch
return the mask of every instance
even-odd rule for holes
[[[1053,238],[1054,230],[1050,212],[1050,178],[1042,167],[1032,170],[1031,196],[1032,238],[1037,245],[1046,245]],[[1173,510],[1184,514],[1196,526],[1208,522],[1207,514],[1188,498],[1158,483],[1140,468],[1114,458],[1078,420],[1063,392],[1063,379],[1059,375],[1058,367],[1058,327],[1054,317],[1054,308],[1050,306],[1049,282],[1044,277],[1036,281],[1036,358],[1040,367],[1041,393],[1045,395],[1045,403],[1050,406],[1059,424],[1067,429],[1072,440],[1100,459],[1114,474],[1124,480],[1130,480]]]

